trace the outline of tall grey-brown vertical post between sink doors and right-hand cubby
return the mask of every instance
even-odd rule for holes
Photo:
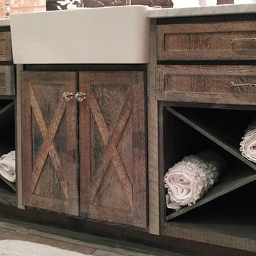
[[[149,233],[159,235],[158,107],[156,101],[156,20],[151,19],[147,67],[147,126],[149,166]]]

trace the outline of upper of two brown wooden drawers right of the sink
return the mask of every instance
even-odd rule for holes
[[[158,60],[255,60],[256,21],[159,25],[157,51]]]

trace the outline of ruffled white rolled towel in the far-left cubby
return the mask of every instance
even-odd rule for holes
[[[8,181],[16,181],[15,151],[11,151],[8,154],[4,154],[3,156],[1,156],[0,174]]]

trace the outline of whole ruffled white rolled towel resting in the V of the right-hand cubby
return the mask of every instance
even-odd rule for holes
[[[218,181],[226,167],[225,160],[212,150],[183,157],[164,176],[166,206],[174,210],[192,206]]]

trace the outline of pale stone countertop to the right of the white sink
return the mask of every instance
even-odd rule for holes
[[[224,14],[256,13],[256,4],[223,4],[218,6],[199,6],[189,8],[149,9],[149,18],[173,18],[185,16],[207,16]]]

